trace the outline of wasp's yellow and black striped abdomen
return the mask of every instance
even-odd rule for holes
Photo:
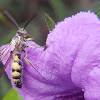
[[[21,88],[21,74],[22,74],[22,64],[21,64],[21,54],[15,54],[12,62],[12,80],[16,87]]]

